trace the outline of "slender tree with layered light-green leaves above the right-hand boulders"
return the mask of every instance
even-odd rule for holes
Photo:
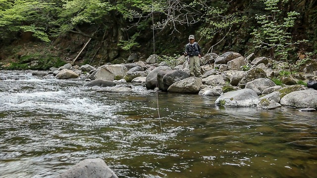
[[[295,20],[300,13],[296,11],[287,12],[287,17],[283,17],[278,4],[287,3],[286,0],[261,0],[265,4],[267,13],[256,15],[260,24],[259,28],[254,29],[251,33],[255,36],[253,43],[260,49],[273,49],[275,59],[287,60],[290,51],[294,45],[306,42],[293,41],[289,29],[295,24]]]

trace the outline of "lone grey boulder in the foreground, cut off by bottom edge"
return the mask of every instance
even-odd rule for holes
[[[114,172],[106,165],[105,161],[96,159],[86,159],[72,166],[64,173],[55,178],[118,178]]]

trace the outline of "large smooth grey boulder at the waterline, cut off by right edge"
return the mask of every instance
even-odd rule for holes
[[[293,91],[282,97],[280,103],[286,106],[295,106],[298,108],[317,109],[317,90],[306,89]]]

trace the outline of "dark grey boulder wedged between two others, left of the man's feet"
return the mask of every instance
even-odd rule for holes
[[[189,78],[189,75],[180,70],[159,71],[157,78],[159,90],[167,91],[169,86],[186,78]]]

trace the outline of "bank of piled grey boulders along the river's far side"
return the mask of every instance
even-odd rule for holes
[[[136,55],[129,63],[100,67],[66,64],[51,68],[50,72],[34,71],[32,75],[54,75],[57,79],[80,78],[87,87],[100,86],[99,92],[132,92],[128,85],[116,83],[141,83],[147,89],[219,96],[215,104],[223,106],[249,106],[263,109],[291,106],[317,109],[317,61],[310,60],[291,66],[266,57],[251,54],[243,57],[236,52],[215,53],[202,57],[202,78],[189,77],[189,65],[184,56],[176,60],[176,66],[158,62],[159,56],[151,55],[146,61],[138,61]],[[134,62],[136,61],[136,62]],[[291,68],[290,68],[291,67]],[[302,72],[291,72],[292,69]],[[93,82],[92,82],[93,81]],[[309,89],[309,87],[315,89]],[[276,85],[278,84],[278,85]],[[304,111],[304,110],[303,110]]]

